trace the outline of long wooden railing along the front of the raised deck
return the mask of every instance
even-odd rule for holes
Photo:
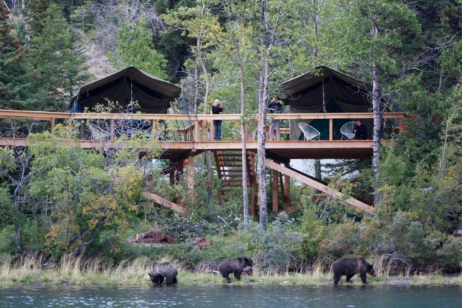
[[[105,140],[114,140],[120,132],[117,132],[117,125],[120,121],[143,121],[147,125],[142,127],[149,127],[149,135],[153,138],[158,137],[158,130],[165,130],[165,140],[168,142],[209,142],[213,141],[213,120],[223,120],[223,125],[228,130],[227,136],[229,138],[222,138],[223,141],[238,141],[241,139],[239,125],[241,120],[240,114],[221,114],[221,115],[180,115],[180,114],[127,114],[127,113],[55,113],[55,112],[42,112],[42,111],[23,111],[23,110],[0,110],[0,138],[5,137],[25,137],[15,133],[15,129],[21,127],[21,121],[28,123],[35,123],[40,127],[38,130],[49,130],[53,135],[55,127],[59,122],[65,120],[79,121],[84,127],[88,123],[96,122],[105,124],[105,132],[107,136]],[[334,136],[334,120],[356,120],[356,119],[373,119],[373,113],[278,113],[267,115],[268,119],[285,120],[328,120],[328,140],[333,141]],[[385,127],[385,132],[394,132],[401,134],[405,129],[404,113],[383,113],[382,118],[384,121],[392,122],[391,125]],[[258,115],[253,115],[244,119],[246,122],[246,139],[256,139],[256,125],[258,122]],[[16,122],[15,122],[16,121]],[[13,125],[13,123],[15,123]],[[27,125],[24,125],[24,127]],[[8,128],[9,127],[9,128]],[[136,129],[136,127],[135,127]],[[371,130],[372,127],[369,127]],[[267,125],[269,130],[269,125]],[[27,132],[23,129],[23,132]],[[30,131],[30,130],[29,130]],[[284,139],[289,139],[291,135],[290,125],[282,125],[282,135],[288,136]],[[268,136],[269,134],[267,134]],[[211,137],[212,136],[212,137]],[[95,139],[91,135],[81,135],[82,139]],[[212,138],[212,139],[211,139]],[[293,136],[290,139],[294,139]]]

